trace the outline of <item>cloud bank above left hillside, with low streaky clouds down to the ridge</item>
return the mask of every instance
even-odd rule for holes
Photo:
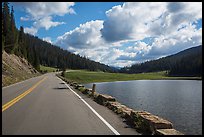
[[[125,53],[123,50],[119,50],[117,47],[120,46],[120,43],[107,43],[100,32],[102,27],[103,21],[101,20],[80,24],[74,30],[59,36],[55,44],[75,54],[111,66],[129,65],[130,61],[127,63],[127,61],[116,61],[116,59],[121,55],[134,53]]]

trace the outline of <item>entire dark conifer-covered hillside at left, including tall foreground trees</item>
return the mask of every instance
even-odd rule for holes
[[[2,7],[2,51],[23,57],[30,62],[35,69],[40,69],[40,64],[60,69],[87,69],[91,71],[114,72],[113,68],[75,55],[67,50],[52,45],[36,36],[25,34],[21,26],[16,28],[14,9],[8,2],[3,2]]]

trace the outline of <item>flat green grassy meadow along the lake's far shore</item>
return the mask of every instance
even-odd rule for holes
[[[104,73],[91,72],[85,70],[71,70],[65,73],[65,77],[78,83],[93,82],[111,82],[127,80],[156,80],[156,79],[197,79],[195,77],[168,77],[166,72],[140,73],[140,74],[121,74],[121,73]]]

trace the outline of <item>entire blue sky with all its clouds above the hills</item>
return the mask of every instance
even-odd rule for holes
[[[17,27],[116,67],[202,44],[201,2],[12,2]]]

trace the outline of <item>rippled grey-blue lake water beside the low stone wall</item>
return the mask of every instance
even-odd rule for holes
[[[202,81],[135,80],[95,83],[96,91],[134,110],[145,110],[188,135],[202,134]],[[92,88],[92,83],[84,84]]]

